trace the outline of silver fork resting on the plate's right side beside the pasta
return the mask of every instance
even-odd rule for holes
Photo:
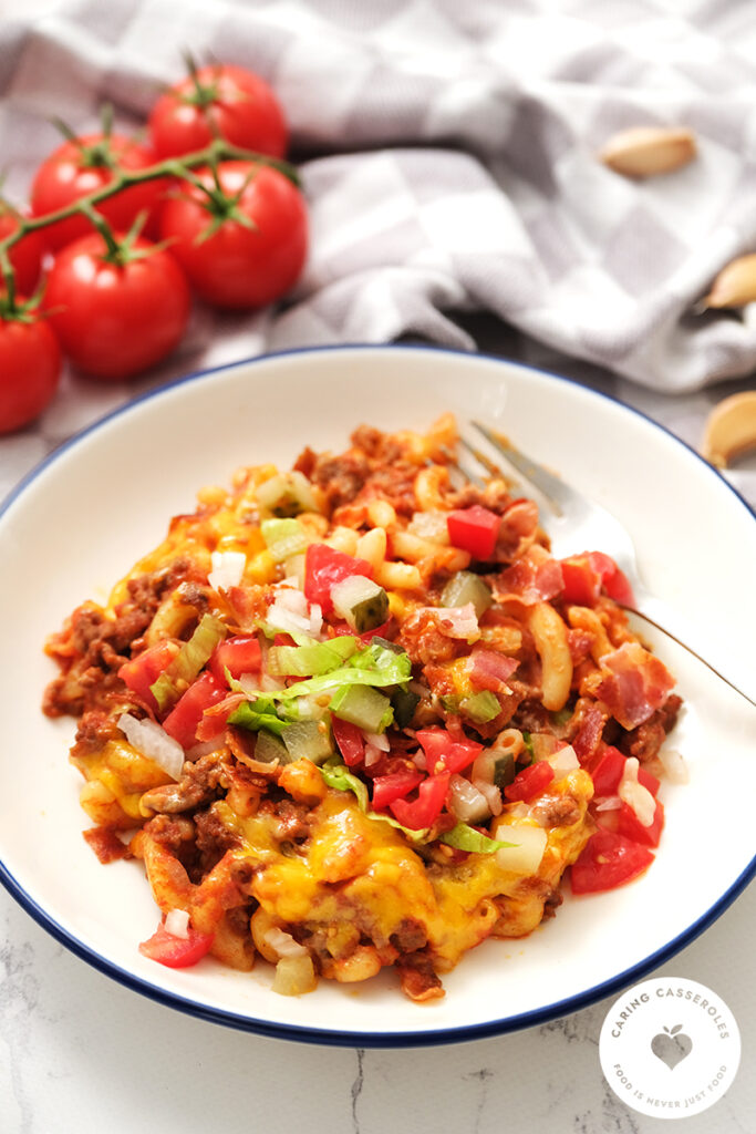
[[[504,441],[486,425],[481,422],[472,422],[476,430],[486,439],[489,445],[508,462],[512,468],[534,486],[543,502],[549,509],[549,516],[544,516],[543,508],[541,519],[544,528],[551,538],[552,551],[555,558],[575,553],[578,550],[604,551],[611,556],[614,562],[627,575],[636,602],[626,609],[649,623],[662,634],[666,634],[678,645],[682,646],[695,658],[706,666],[721,680],[725,682],[730,688],[745,697],[749,704],[756,708],[756,700],[746,693],[736,682],[727,677],[720,668],[712,665],[687,641],[687,633],[680,636],[670,628],[673,625],[674,616],[664,603],[653,595],[642,583],[636,561],[635,547],[630,533],[626,527],[601,505],[594,503],[584,497],[577,489],[571,488],[563,480],[554,476],[543,465],[536,464],[509,441]],[[461,445],[476,460],[486,469],[489,474],[506,476],[506,472],[499,467],[490,457],[476,446],[470,445],[461,438]],[[468,479],[484,483],[479,476],[468,468],[462,467],[462,473]],[[541,501],[540,501],[541,502]]]

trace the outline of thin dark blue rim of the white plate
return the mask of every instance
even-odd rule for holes
[[[634,406],[628,406],[626,403],[615,398],[611,393],[606,393],[603,390],[595,390],[593,387],[585,386],[584,383],[577,381],[572,378],[567,378],[563,374],[554,374],[550,371],[540,370],[536,366],[528,366],[524,363],[513,362],[508,358],[502,358],[498,355],[484,354],[481,352],[475,352],[473,354],[464,350],[455,350],[447,347],[435,347],[425,345],[414,345],[414,344],[342,344],[337,346],[322,346],[322,347],[299,347],[291,350],[279,350],[265,355],[255,355],[252,358],[239,358],[237,362],[224,363],[220,366],[209,367],[206,370],[194,371],[189,374],[185,374],[180,378],[173,379],[162,386],[155,387],[137,395],[129,401],[110,413],[97,418],[91,425],[80,430],[78,433],[68,438],[61,445],[57,446],[51,452],[46,455],[31,472],[28,472],[18,484],[8,493],[8,496],[0,503],[0,519],[10,508],[10,506],[26,491],[29,484],[32,484],[40,475],[43,473],[50,464],[53,464],[58,458],[66,452],[69,448],[79,445],[85,438],[96,430],[101,429],[104,424],[112,421],[116,417],[120,417],[122,414],[129,413],[135,406],[143,401],[147,401],[151,398],[160,397],[169,390],[173,390],[179,386],[184,386],[188,382],[199,381],[207,378],[211,374],[218,374],[227,370],[236,370],[239,366],[246,366],[256,363],[265,363],[271,359],[291,357],[294,355],[308,355],[308,354],[323,354],[323,353],[342,353],[342,352],[385,352],[388,354],[401,354],[401,353],[435,353],[443,355],[452,355],[455,357],[465,358],[466,361],[472,361],[475,358],[481,358],[485,362],[503,363],[507,366],[511,366],[516,370],[527,371],[530,373],[538,374],[540,376],[547,378],[555,382],[564,382],[569,386],[575,386],[578,389],[585,390],[589,396],[597,398],[603,398],[606,401],[611,401],[619,406],[621,409],[635,414],[642,417],[645,422],[652,425],[654,429],[660,430],[665,433],[676,445],[681,446],[687,449],[697,460],[699,460],[711,473],[711,475],[716,476],[725,488],[733,493],[733,496],[740,501],[746,511],[749,514],[751,519],[756,519],[756,511],[748,501],[741,496],[736,488],[733,488],[730,482],[722,476],[722,474],[713,468],[704,458],[696,452],[696,450],[689,446],[686,441],[681,440],[666,426],[655,422],[643,411],[636,409]],[[301,1043],[314,1043],[323,1047],[349,1047],[349,1048],[409,1048],[409,1047],[433,1047],[442,1043],[461,1043],[469,1040],[481,1040],[487,1039],[493,1035],[502,1035],[507,1032],[519,1031],[525,1027],[534,1027],[538,1024],[547,1023],[552,1019],[558,1019],[562,1016],[571,1015],[572,1013],[580,1012],[584,1008],[588,1008],[591,1005],[595,1004],[597,1000],[602,1000],[615,992],[620,992],[622,989],[627,988],[639,978],[647,975],[659,965],[669,960],[686,946],[690,945],[697,937],[699,937],[705,930],[707,930],[732,903],[736,898],[746,889],[750,880],[756,875],[756,855],[751,858],[750,863],[745,868],[741,874],[736,879],[736,881],[722,894],[722,896],[691,925],[668,941],[665,946],[657,949],[655,953],[649,954],[644,957],[637,964],[631,965],[629,968],[623,970],[621,973],[615,974],[610,980],[604,981],[601,984],[596,984],[593,988],[586,989],[576,996],[568,997],[564,1000],[558,1000],[554,1004],[546,1005],[542,1008],[533,1009],[532,1012],[520,1013],[517,1016],[503,1017],[501,1019],[491,1019],[482,1024],[464,1024],[458,1027],[443,1027],[435,1030],[425,1031],[404,1031],[404,1032],[365,1032],[357,1033],[351,1031],[328,1031],[316,1027],[305,1027],[298,1026],[296,1024],[277,1024],[271,1023],[266,1019],[260,1019],[254,1016],[241,1016],[231,1012],[227,1012],[220,1008],[213,1008],[207,1005],[202,1005],[196,1000],[189,1000],[186,997],[181,997],[178,993],[169,992],[165,989],[161,989],[141,978],[134,976],[127,970],[121,968],[119,965],[101,954],[91,949],[88,946],[84,945],[76,937],[63,929],[45,909],[43,909],[32,897],[26,892],[24,887],[16,880],[16,878],[6,868],[2,860],[0,860],[0,882],[8,890],[8,892],[16,899],[20,907],[39,924],[42,929],[46,930],[61,945],[66,946],[70,953],[85,960],[87,964],[92,965],[94,968],[116,980],[119,984],[125,988],[130,989],[134,992],[139,992],[142,996],[147,997],[151,1000],[162,1004],[165,1007],[173,1008],[178,1012],[182,1012],[187,1015],[195,1016],[199,1019],[207,1021],[214,1024],[221,1024],[227,1027],[233,1027],[240,1031],[254,1032],[258,1035],[265,1035],[272,1039],[279,1040],[295,1040]]]

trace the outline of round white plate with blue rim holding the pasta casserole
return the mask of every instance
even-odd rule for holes
[[[648,972],[706,929],[744,888],[753,860],[754,712],[683,651],[656,640],[686,711],[674,744],[690,782],[664,785],[666,829],[647,874],[611,894],[566,897],[518,941],[487,941],[418,1006],[387,973],[323,981],[305,997],[205,959],[171,971],[142,957],[156,924],[142,866],[101,866],[82,838],[74,726],[40,712],[45,636],[83,599],[103,600],[195,491],[241,464],[289,465],[339,450],[351,429],[427,428],[447,409],[486,417],[609,506],[632,532],[656,593],[747,672],[756,641],[756,523],[694,452],[617,403],[506,362],[425,348],[298,352],[190,376],[112,414],[37,468],[0,513],[0,875],[78,956],[150,997],[207,1019],[350,1046],[439,1043],[564,1015]],[[585,550],[576,548],[576,551]]]

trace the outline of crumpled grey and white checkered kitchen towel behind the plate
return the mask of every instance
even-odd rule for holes
[[[3,3],[16,198],[57,143],[51,113],[92,128],[109,100],[136,125],[186,49],[257,70],[286,108],[312,209],[294,302],[199,311],[167,372],[402,335],[472,348],[453,318],[472,310],[656,390],[756,363],[751,308],[695,310],[756,247],[750,0],[77,0],[34,19]],[[601,145],[640,124],[690,127],[698,159],[644,183],[604,168]]]

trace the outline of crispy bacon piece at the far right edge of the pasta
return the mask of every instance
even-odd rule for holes
[[[666,701],[674,678],[666,666],[637,642],[625,642],[601,659],[597,696],[622,728],[634,729]]]

